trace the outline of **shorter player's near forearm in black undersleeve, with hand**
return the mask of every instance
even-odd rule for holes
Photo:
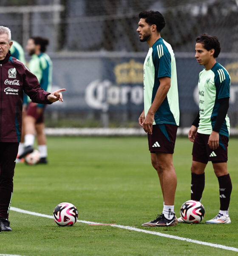
[[[218,109],[217,119],[208,140],[208,145],[213,150],[219,147],[219,131],[227,116],[227,111],[229,108],[229,98],[218,99],[218,102],[220,103],[220,107]]]

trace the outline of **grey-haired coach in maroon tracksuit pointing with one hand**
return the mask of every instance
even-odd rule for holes
[[[16,58],[11,57],[11,31],[0,26],[0,231],[11,231],[8,212],[13,192],[15,160],[21,138],[23,91],[33,102],[63,101],[59,89],[48,93]]]

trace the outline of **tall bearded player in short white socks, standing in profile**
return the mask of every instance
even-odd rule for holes
[[[160,12],[143,11],[139,14],[141,42],[149,48],[144,61],[144,111],[139,124],[148,134],[151,163],[159,175],[164,198],[161,215],[142,226],[175,226],[174,197],[177,186],[173,166],[173,151],[179,125],[178,86],[173,49],[163,38],[165,26]]]

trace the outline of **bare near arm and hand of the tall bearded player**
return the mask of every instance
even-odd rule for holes
[[[152,134],[152,125],[154,122],[155,113],[156,113],[157,109],[159,108],[159,106],[164,101],[168,91],[170,90],[170,85],[171,85],[170,77],[161,77],[161,78],[159,78],[159,82],[160,82],[160,85],[156,92],[155,99],[154,99],[152,105],[150,106],[150,109],[144,119],[144,122],[143,122],[144,131],[147,132],[148,134]]]

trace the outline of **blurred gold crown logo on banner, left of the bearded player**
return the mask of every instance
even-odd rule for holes
[[[114,68],[117,84],[142,84],[143,83],[143,64],[134,61],[116,65]]]

